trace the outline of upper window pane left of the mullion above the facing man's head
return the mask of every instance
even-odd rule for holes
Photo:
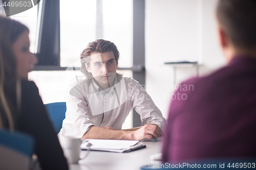
[[[96,1],[60,1],[60,66],[75,63],[80,67],[79,56],[90,41],[96,39]]]

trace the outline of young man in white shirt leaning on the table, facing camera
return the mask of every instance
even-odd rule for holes
[[[68,88],[67,112],[59,135],[82,139],[154,139],[166,125],[161,111],[133,78],[116,72],[119,52],[113,42],[90,42],[80,55],[83,77]],[[141,127],[121,130],[135,108]]]

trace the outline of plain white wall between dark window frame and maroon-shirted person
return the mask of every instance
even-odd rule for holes
[[[199,61],[200,76],[225,64],[218,42],[216,4],[217,0],[145,1],[146,91],[164,117],[175,88],[173,68],[164,62]],[[179,67],[176,72],[176,84],[196,76],[195,67]]]

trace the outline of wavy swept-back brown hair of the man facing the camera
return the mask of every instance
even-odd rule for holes
[[[80,54],[80,61],[81,61],[81,72],[87,78],[88,83],[92,83],[93,76],[91,72],[88,72],[86,69],[86,64],[90,66],[91,54],[96,53],[105,53],[112,51],[114,53],[116,62],[119,60],[119,51],[117,50],[116,45],[113,42],[97,39],[95,41],[90,42],[87,47],[82,51]],[[118,77],[121,77],[121,74],[117,74]]]

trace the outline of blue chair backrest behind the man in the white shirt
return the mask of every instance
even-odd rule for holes
[[[66,102],[49,103],[45,104],[45,106],[56,133],[59,133],[62,127],[62,121],[66,117]]]

